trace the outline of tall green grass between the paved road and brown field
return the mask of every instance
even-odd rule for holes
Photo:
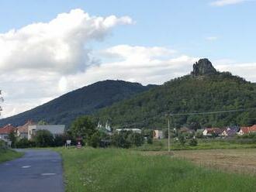
[[[56,149],[67,191],[255,191],[256,178],[125,149]]]

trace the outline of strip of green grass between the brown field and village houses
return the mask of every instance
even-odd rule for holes
[[[256,143],[240,144],[227,141],[225,139],[197,139],[197,146],[189,146],[188,142],[182,146],[179,142],[171,139],[171,150],[189,150],[189,149],[251,149],[256,148]],[[156,139],[153,144],[145,143],[143,146],[134,148],[139,151],[164,151],[168,150],[168,139]]]

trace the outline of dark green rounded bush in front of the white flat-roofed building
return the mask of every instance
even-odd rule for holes
[[[33,140],[36,142],[36,146],[39,147],[53,146],[54,144],[54,136],[48,130],[36,131],[36,135],[33,136]]]

